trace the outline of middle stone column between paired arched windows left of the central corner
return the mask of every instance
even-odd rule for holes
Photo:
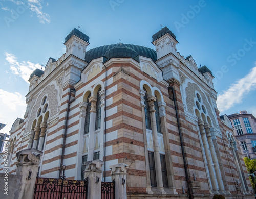
[[[88,160],[93,160],[94,131],[95,131],[95,120],[96,120],[96,102],[97,102],[97,97],[91,96],[89,98],[89,102],[91,103],[91,110],[90,110]]]

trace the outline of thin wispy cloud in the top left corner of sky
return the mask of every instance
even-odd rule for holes
[[[43,7],[42,7],[42,2],[44,2],[43,0],[25,0],[25,1],[18,1],[18,0],[8,0],[10,2],[13,2],[16,5],[19,6],[23,6],[24,9],[29,9],[32,12],[32,16],[33,14],[36,15],[36,17],[39,19],[40,23],[50,23],[50,15],[43,12]],[[1,9],[5,10],[5,11],[10,11],[11,13],[13,13],[13,10],[16,11],[15,8],[8,8],[7,6],[3,6],[3,4],[0,2],[1,4]],[[48,6],[48,2],[46,4],[46,6]]]

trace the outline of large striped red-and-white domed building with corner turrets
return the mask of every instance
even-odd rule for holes
[[[40,177],[58,178],[66,165],[65,176],[80,180],[83,163],[99,159],[103,181],[110,165],[127,165],[131,198],[252,198],[211,71],[180,55],[167,27],[152,38],[156,50],[118,43],[87,51],[89,37],[74,29],[66,53],[30,76],[25,118],[10,131],[10,173],[18,151],[37,148]]]

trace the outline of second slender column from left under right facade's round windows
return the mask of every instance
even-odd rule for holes
[[[214,169],[215,169],[217,181],[218,181],[218,184],[219,184],[219,189],[221,191],[220,193],[224,193],[225,190],[224,190],[224,185],[223,185],[223,182],[222,182],[220,167],[219,167],[217,155],[215,153],[214,143],[212,142],[212,139],[211,139],[210,126],[209,126],[208,123],[204,124],[204,129],[205,129],[206,137],[207,137],[208,144],[209,144],[209,147],[210,147],[210,153],[211,153],[212,161],[214,162]]]

